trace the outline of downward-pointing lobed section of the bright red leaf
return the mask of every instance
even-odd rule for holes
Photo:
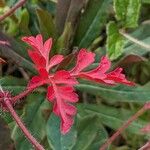
[[[61,132],[67,133],[73,124],[73,115],[76,113],[76,108],[70,102],[77,102],[78,95],[74,92],[73,87],[58,86],[54,80],[51,80],[52,86],[49,88],[47,98],[53,101],[55,95],[55,102],[53,112],[61,118]]]

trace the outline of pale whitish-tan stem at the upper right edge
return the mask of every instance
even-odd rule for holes
[[[130,36],[129,34],[123,32],[123,31],[121,31],[121,30],[119,31],[119,33],[120,33],[122,36],[124,36],[125,38],[127,38],[129,41],[131,41],[131,42],[133,42],[133,43],[136,43],[136,44],[139,45],[140,47],[145,48],[145,49],[147,49],[147,50],[150,51],[150,45],[145,44],[145,43],[139,41],[138,39],[136,39],[136,38]]]

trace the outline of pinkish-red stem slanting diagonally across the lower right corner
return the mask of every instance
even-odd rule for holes
[[[131,116],[107,141],[99,150],[105,150],[133,121],[141,116],[148,108],[145,105],[136,114]]]

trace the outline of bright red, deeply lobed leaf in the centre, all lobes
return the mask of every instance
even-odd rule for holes
[[[63,61],[62,55],[54,55],[49,59],[52,47],[52,39],[43,43],[42,35],[36,37],[23,37],[23,41],[28,43],[32,50],[28,50],[29,56],[39,72],[28,84],[27,89],[34,88],[43,84],[48,84],[47,99],[54,103],[53,112],[61,118],[61,131],[67,133],[72,124],[72,116],[76,114],[76,108],[69,103],[78,101],[78,95],[74,92],[74,85],[78,82],[76,78],[84,78],[97,83],[116,85],[122,83],[134,85],[128,81],[122,74],[122,68],[116,68],[114,71],[107,73],[110,69],[111,62],[107,57],[102,57],[98,67],[90,71],[84,71],[94,62],[95,54],[81,49],[77,56],[77,63],[70,71],[59,70],[52,74],[51,69]],[[55,101],[54,101],[55,100]]]

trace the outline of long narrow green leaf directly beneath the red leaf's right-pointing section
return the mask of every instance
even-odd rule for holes
[[[136,102],[142,104],[148,102],[150,98],[149,87],[146,86],[128,87],[119,85],[115,87],[106,87],[100,85],[79,84],[76,87],[80,91],[99,95],[109,102]]]

